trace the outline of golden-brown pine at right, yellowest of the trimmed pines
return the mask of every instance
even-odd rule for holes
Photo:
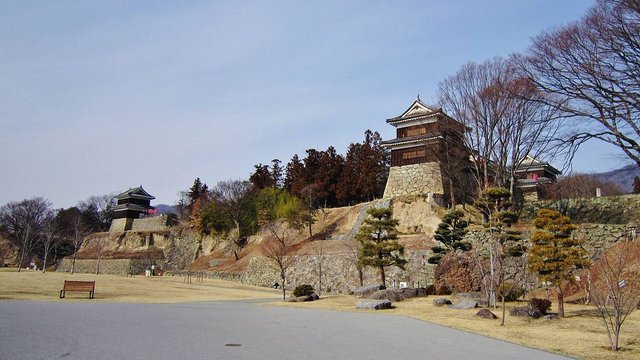
[[[575,226],[557,211],[542,209],[533,220],[528,265],[538,280],[551,283],[558,293],[558,315],[564,317],[562,285],[574,279],[576,269],[589,265],[582,241],[571,236]]]

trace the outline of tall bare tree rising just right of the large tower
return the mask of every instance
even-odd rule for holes
[[[439,85],[443,109],[468,129],[477,192],[495,182],[513,194],[515,171],[527,155],[553,156],[551,140],[558,136],[557,107],[512,61],[496,58],[464,65]]]

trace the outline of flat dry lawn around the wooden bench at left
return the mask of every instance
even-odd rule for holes
[[[91,301],[179,303],[214,300],[277,298],[280,292],[230,281],[204,279],[185,284],[181,277],[128,278],[115,275],[69,274],[33,270],[0,270],[0,300],[87,301],[88,293],[70,292],[59,299],[64,280],[95,280],[96,295]]]

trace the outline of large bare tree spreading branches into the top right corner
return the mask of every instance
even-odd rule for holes
[[[640,165],[640,3],[599,0],[581,21],[540,35],[519,67],[568,119],[570,156],[590,139]]]

